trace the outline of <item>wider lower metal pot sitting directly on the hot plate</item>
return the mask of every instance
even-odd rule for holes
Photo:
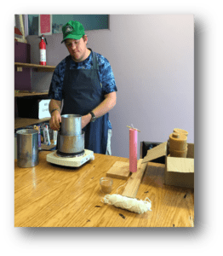
[[[82,131],[81,135],[66,136],[58,133],[58,149],[62,153],[71,154],[79,153],[84,149],[84,134]]]

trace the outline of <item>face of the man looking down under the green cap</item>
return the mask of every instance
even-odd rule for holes
[[[66,48],[68,49],[71,58],[73,59],[73,61],[76,62],[81,62],[84,61],[88,56],[88,51],[87,51],[87,41],[88,38],[85,37],[85,41],[83,41],[83,38],[79,39],[79,40],[75,40],[75,39],[66,39]]]

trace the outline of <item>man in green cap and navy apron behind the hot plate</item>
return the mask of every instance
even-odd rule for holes
[[[62,114],[81,114],[85,149],[111,154],[109,111],[116,105],[116,83],[109,61],[87,48],[83,25],[70,20],[62,27],[70,55],[57,65],[49,88],[50,128],[60,129]],[[62,113],[61,102],[64,99]]]

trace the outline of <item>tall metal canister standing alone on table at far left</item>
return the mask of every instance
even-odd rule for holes
[[[16,132],[17,135],[17,165],[19,167],[34,167],[38,160],[38,131],[24,129]]]

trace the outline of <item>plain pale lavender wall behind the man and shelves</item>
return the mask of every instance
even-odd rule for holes
[[[129,128],[140,142],[166,142],[174,128],[189,132],[194,143],[194,15],[110,15],[110,31],[87,31],[88,47],[111,63],[117,84],[117,105],[109,113],[111,153],[129,158]],[[37,49],[39,40],[27,38]],[[48,65],[57,65],[68,51],[62,34],[47,38]],[[31,62],[38,62],[32,51]],[[39,77],[38,77],[39,76]],[[33,74],[33,86],[49,89],[52,74]],[[39,81],[42,84],[39,84]],[[44,83],[43,83],[44,80]]]

